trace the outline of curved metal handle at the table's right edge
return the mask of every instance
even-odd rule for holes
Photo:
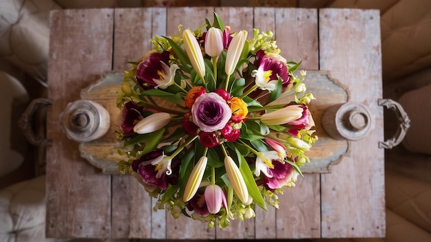
[[[395,115],[397,115],[399,122],[397,133],[395,133],[392,138],[384,142],[379,142],[379,148],[393,148],[394,146],[397,146],[399,143],[401,143],[404,136],[406,136],[407,130],[410,128],[410,118],[408,118],[408,115],[406,111],[404,111],[403,107],[401,107],[401,104],[395,102],[392,99],[379,99],[378,104],[379,106],[392,109],[395,112]]]

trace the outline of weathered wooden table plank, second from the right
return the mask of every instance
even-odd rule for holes
[[[302,61],[301,69],[319,68],[317,10],[276,9],[275,39],[282,50],[280,54],[288,61]],[[320,236],[319,175],[306,174],[298,180],[295,188],[279,196],[280,209],[274,223],[277,238]]]

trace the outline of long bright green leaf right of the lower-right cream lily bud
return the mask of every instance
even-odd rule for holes
[[[240,161],[240,172],[242,177],[244,178],[247,190],[249,190],[250,197],[253,198],[253,201],[255,201],[255,203],[260,206],[260,208],[262,208],[263,210],[267,210],[266,203],[264,201],[264,198],[262,197],[262,194],[260,194],[259,188],[257,188],[257,184],[253,177],[253,173],[251,173],[249,164],[247,164],[246,160],[244,159],[244,156],[241,155],[238,149],[235,149],[235,152],[238,156],[238,160]]]

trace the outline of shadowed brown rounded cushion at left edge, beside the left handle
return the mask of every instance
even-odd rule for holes
[[[15,170],[23,162],[25,140],[17,126],[19,117],[14,116],[17,111],[20,113],[23,110],[28,99],[27,91],[19,80],[0,71],[0,177]]]

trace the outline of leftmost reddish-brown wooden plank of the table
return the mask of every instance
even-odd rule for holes
[[[78,143],[61,131],[59,114],[81,89],[111,69],[113,10],[51,14],[48,62],[46,192],[48,237],[109,238],[111,177],[81,158]]]

